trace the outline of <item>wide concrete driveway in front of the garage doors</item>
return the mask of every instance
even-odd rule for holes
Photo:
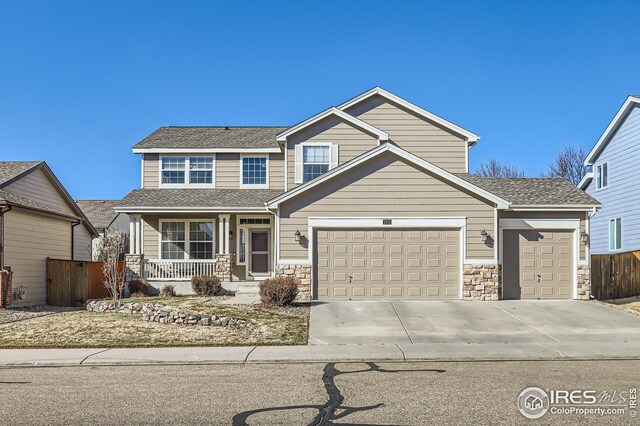
[[[318,302],[309,344],[640,341],[640,317],[584,301]]]

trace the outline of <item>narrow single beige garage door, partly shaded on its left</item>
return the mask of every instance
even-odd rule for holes
[[[573,231],[504,231],[503,298],[571,299]]]

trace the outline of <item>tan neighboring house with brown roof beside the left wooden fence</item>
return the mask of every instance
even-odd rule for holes
[[[94,235],[44,161],[0,162],[0,269],[13,271],[14,304],[46,303],[47,257],[91,260]]]

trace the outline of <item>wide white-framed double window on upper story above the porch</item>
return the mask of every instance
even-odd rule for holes
[[[163,156],[160,184],[213,186],[214,157]]]

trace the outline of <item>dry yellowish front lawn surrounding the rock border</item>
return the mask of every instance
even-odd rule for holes
[[[135,299],[190,313],[231,316],[252,329],[146,322],[138,314],[62,312],[0,324],[0,348],[133,348],[171,346],[306,345],[308,308],[294,310],[210,305],[199,297]],[[128,299],[127,301],[134,301]],[[215,303],[211,300],[210,303]]]

